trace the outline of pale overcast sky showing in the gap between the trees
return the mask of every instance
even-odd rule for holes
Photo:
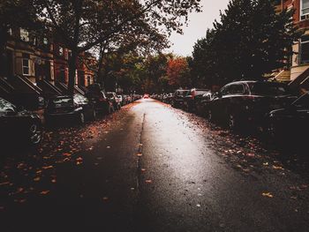
[[[168,51],[180,56],[191,56],[194,43],[205,36],[207,28],[213,27],[215,19],[219,19],[220,10],[227,8],[229,0],[200,0],[203,11],[190,15],[189,26],[184,27],[184,34],[172,34],[173,44]]]

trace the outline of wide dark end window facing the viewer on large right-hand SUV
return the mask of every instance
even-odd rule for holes
[[[249,83],[251,94],[267,96],[283,96],[290,94],[288,86],[281,83]]]

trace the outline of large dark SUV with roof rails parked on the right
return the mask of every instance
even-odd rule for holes
[[[283,83],[238,81],[223,86],[215,94],[207,115],[230,129],[245,124],[263,128],[269,111],[283,108],[296,98]]]

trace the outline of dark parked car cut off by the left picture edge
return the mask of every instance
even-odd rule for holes
[[[38,115],[18,110],[11,102],[0,98],[0,141],[16,141],[38,145],[41,142],[41,119]]]

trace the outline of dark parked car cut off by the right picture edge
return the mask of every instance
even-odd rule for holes
[[[269,131],[273,138],[305,142],[309,131],[309,94],[303,94],[283,109],[269,113]]]

